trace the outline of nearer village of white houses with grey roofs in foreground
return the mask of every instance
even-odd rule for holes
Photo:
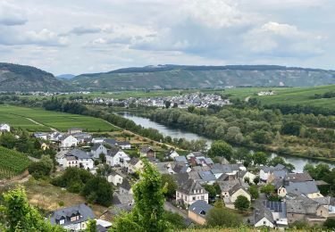
[[[11,128],[1,124],[0,130],[5,132]],[[236,207],[241,199],[247,201],[246,210],[254,210],[244,222],[255,228],[284,229],[296,222],[317,225],[335,216],[335,198],[322,195],[319,189],[326,183],[315,181],[307,172],[295,173],[282,164],[245,167],[224,158],[214,162],[205,152],[181,154],[172,147],[158,159],[154,145],[133,145],[126,140],[92,137],[81,128],[69,128],[67,133],[38,132],[32,136],[40,139],[44,148],[56,145],[57,170],[76,167],[96,174],[99,166],[110,167],[105,178],[115,189],[110,207],[113,215],[131,211],[134,204],[132,185],[138,181],[136,174],[143,171],[143,159],[147,159],[160,174],[175,180],[175,193],[164,207],[179,213],[187,226],[205,225],[206,217],[218,199],[232,211],[240,210]],[[214,194],[207,191],[212,187],[217,190]],[[257,189],[261,190],[259,195]],[[96,219],[100,231],[106,231],[113,223],[96,218],[86,203],[54,211],[49,220],[52,224],[79,231],[86,227],[89,219]]]

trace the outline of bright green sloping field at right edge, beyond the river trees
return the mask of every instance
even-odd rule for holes
[[[274,95],[257,95],[261,91],[274,91]],[[315,94],[335,92],[335,85],[324,87],[238,87],[224,91],[231,97],[245,99],[255,96],[262,104],[311,104],[315,106],[335,108],[335,98],[311,99]]]

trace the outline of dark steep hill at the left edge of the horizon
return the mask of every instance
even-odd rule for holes
[[[44,70],[19,64],[0,62],[0,91],[66,91],[62,80]]]

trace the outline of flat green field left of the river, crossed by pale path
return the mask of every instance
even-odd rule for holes
[[[30,131],[50,130],[50,128],[67,131],[71,127],[83,128],[85,131],[90,132],[117,130],[117,128],[104,120],[93,117],[64,112],[48,112],[43,109],[32,109],[13,105],[0,105],[0,116],[1,115],[4,115],[4,120],[0,117],[0,122],[8,122],[14,128],[18,128],[22,124],[27,123],[27,121],[29,121],[28,119],[35,120],[46,126],[38,126],[36,123],[30,121],[31,123],[25,124],[24,127]],[[13,117],[14,120],[8,120],[11,119],[11,117]]]

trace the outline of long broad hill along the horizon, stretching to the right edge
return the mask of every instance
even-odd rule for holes
[[[70,83],[76,87],[92,90],[228,86],[313,87],[335,84],[335,71],[276,65],[158,65],[81,74],[71,79]]]

